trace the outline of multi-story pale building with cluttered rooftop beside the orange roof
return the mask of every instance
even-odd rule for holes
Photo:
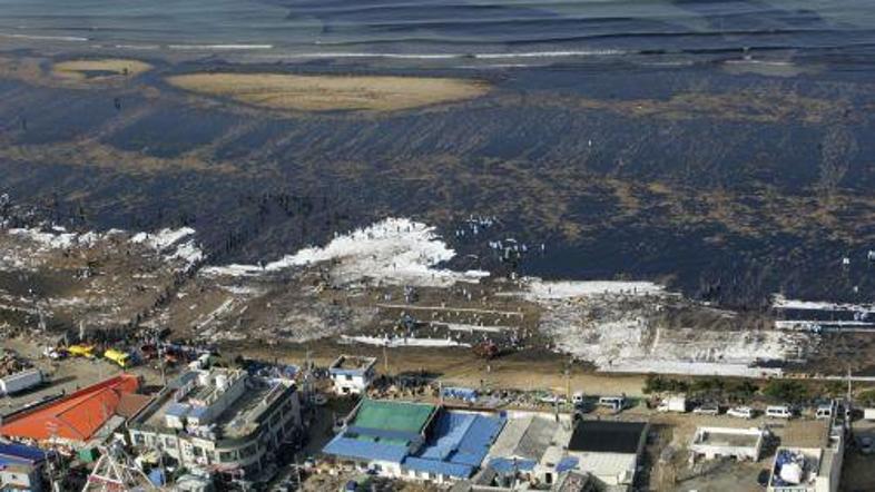
[[[188,469],[252,480],[301,427],[292,381],[212,368],[184,373],[128,423],[131,444]]]

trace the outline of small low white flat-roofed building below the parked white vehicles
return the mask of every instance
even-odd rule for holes
[[[765,431],[761,429],[697,427],[690,451],[692,459],[734,457],[758,461]]]

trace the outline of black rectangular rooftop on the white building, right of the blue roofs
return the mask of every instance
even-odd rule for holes
[[[643,422],[580,421],[568,450],[636,454],[646,429]]]

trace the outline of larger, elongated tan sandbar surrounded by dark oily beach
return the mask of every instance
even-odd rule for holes
[[[395,111],[483,96],[478,80],[429,77],[188,73],[167,79],[178,88],[269,109]]]

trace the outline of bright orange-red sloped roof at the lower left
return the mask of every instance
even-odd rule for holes
[[[47,441],[59,439],[75,442],[90,440],[118,413],[119,405],[139,388],[139,380],[121,374],[81,388],[59,400],[28,409],[3,419],[0,435]]]

